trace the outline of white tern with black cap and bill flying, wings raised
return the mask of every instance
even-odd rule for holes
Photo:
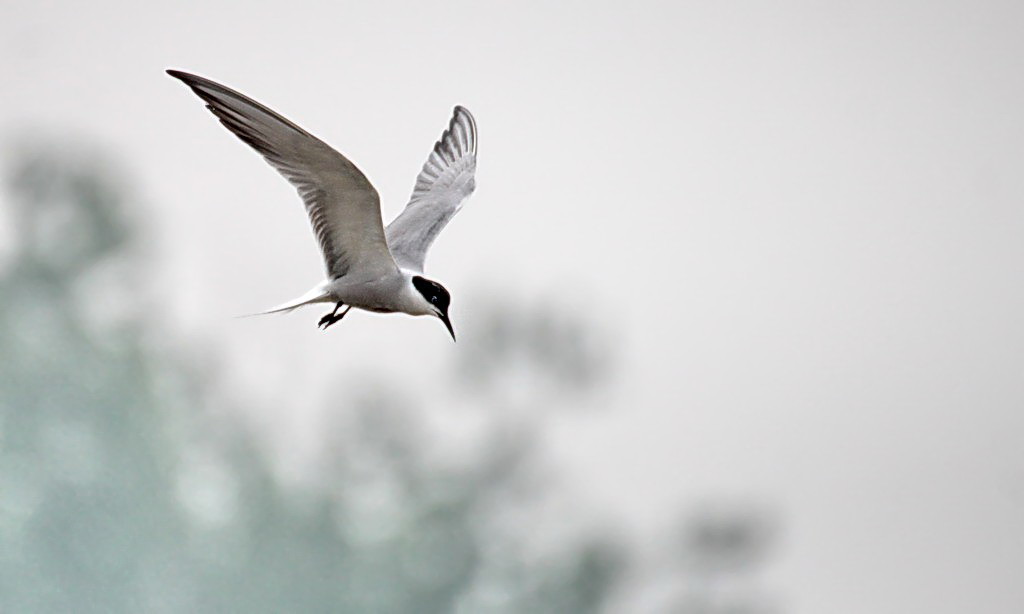
[[[325,331],[351,308],[433,315],[452,340],[452,296],[423,274],[427,250],[476,187],[476,122],[456,106],[447,129],[416,178],[406,209],[387,227],[380,195],[347,158],[263,104],[203,77],[169,70],[225,128],[270,163],[299,192],[324,256],[327,279],[262,313],[334,303]],[[341,313],[338,311],[344,307]]]

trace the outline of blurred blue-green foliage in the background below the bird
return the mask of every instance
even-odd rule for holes
[[[251,437],[210,424],[201,369],[155,349],[167,344],[148,336],[170,334],[146,326],[145,258],[113,176],[46,148],[8,176],[0,611],[554,614],[621,600],[632,563],[609,533],[532,534],[545,485],[529,429],[493,422],[453,462],[417,423],[424,408],[371,387],[337,411],[349,423],[332,430],[330,479],[282,486]],[[600,344],[566,322],[492,318],[458,369],[474,402],[500,404],[516,363],[545,394],[593,387]],[[742,558],[758,540],[744,530],[698,531],[686,550]]]

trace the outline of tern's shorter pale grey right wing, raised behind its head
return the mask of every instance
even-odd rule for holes
[[[473,193],[475,172],[476,122],[456,106],[447,130],[416,178],[413,198],[385,231],[398,266],[423,271],[430,244]]]

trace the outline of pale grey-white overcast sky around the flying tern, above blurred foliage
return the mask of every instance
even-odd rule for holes
[[[0,7],[0,138],[125,163],[169,325],[236,384],[426,386],[459,346],[423,319],[230,319],[318,255],[291,187],[163,70],[334,144],[386,219],[461,103],[478,189],[429,270],[457,328],[497,293],[615,331],[605,410],[548,432],[589,496],[640,533],[709,495],[777,506],[796,612],[1024,609],[1024,4],[143,4]],[[261,420],[301,438],[297,405]]]

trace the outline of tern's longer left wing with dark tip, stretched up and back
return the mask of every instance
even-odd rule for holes
[[[203,77],[167,73],[190,87],[224,127],[298,189],[330,278],[375,277],[395,270],[384,237],[380,196],[355,165],[248,96]]]

